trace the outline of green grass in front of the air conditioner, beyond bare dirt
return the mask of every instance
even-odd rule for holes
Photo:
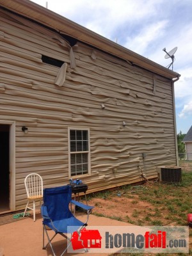
[[[159,218],[162,217],[161,211],[166,211],[165,220],[186,225],[186,216],[192,212],[190,191],[192,192],[192,172],[183,172],[180,184],[154,184],[143,189],[142,193],[136,191],[135,194],[141,201],[147,201],[154,206],[154,213],[147,212],[143,222],[147,222],[147,225],[163,225]]]

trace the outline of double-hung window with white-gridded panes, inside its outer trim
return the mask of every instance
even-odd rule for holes
[[[70,177],[90,173],[89,137],[89,129],[68,129]]]

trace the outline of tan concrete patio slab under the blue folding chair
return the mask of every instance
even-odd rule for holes
[[[0,217],[0,222],[4,216]],[[86,216],[81,214],[79,220],[86,220]],[[0,225],[0,256],[51,256],[51,248],[42,250],[42,218],[36,214],[36,221],[33,221],[33,214],[28,218],[19,218],[19,221]],[[2,222],[1,222],[2,224]],[[90,214],[89,226],[130,226],[131,224],[122,221],[111,220]],[[49,231],[52,232],[52,231]],[[56,255],[63,252],[63,247],[67,243],[61,236],[54,238],[54,248]],[[109,255],[111,253],[81,253],[81,255]],[[65,255],[79,255],[79,253],[65,253]]]

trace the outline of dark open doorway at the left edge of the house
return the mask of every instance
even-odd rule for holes
[[[0,212],[10,210],[10,125],[0,125]]]

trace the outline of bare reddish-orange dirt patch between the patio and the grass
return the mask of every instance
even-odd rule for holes
[[[127,196],[131,198],[127,198]],[[162,225],[175,225],[173,221],[165,219],[165,216],[168,214],[166,209],[159,209],[157,214],[157,208],[154,205],[142,201],[138,195],[130,193],[120,194],[118,191],[115,191],[106,199],[92,198],[89,204],[95,206],[93,214],[97,216],[106,216],[114,220],[141,226],[151,225],[151,221],[156,220],[161,220]],[[150,222],[147,221],[148,216],[150,216]],[[158,225],[157,223],[156,225]]]

